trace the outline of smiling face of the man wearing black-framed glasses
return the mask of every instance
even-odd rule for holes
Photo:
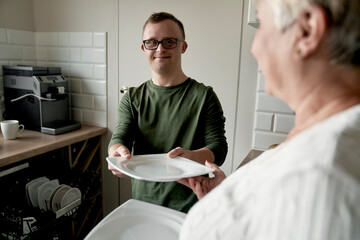
[[[148,23],[143,32],[143,40],[164,40],[166,38],[183,39],[179,26],[171,21],[164,20],[158,23]],[[145,52],[151,70],[158,74],[171,73],[181,70],[181,54],[186,51],[186,42],[178,41],[177,46],[172,49],[165,49],[159,44],[155,50],[148,50],[142,44],[141,49]]]

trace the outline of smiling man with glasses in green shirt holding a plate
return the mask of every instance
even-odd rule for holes
[[[181,55],[187,49],[183,24],[173,15],[154,13],[143,27],[141,49],[152,78],[130,88],[118,108],[109,156],[168,153],[221,165],[227,154],[225,118],[211,87],[186,76]],[[119,177],[124,174],[108,166]],[[132,179],[132,198],[187,212],[197,201],[177,182]]]

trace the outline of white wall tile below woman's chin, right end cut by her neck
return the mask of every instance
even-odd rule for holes
[[[278,98],[269,96],[264,92],[259,92],[257,98],[258,111],[293,114],[289,106]]]

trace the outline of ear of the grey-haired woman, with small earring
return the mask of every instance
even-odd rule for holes
[[[307,57],[316,52],[325,38],[328,17],[320,6],[309,6],[298,17],[300,34],[296,53]]]

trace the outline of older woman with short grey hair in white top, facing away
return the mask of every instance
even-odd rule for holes
[[[211,191],[180,239],[360,239],[360,2],[259,0],[257,15],[252,53],[295,126],[226,179],[207,163],[214,178],[179,180]]]

